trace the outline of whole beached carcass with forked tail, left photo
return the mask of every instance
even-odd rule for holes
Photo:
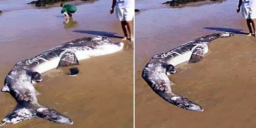
[[[75,55],[79,54],[80,59],[86,59],[93,56],[113,53],[122,49],[122,47],[123,43],[113,43],[110,39],[105,37],[86,37],[66,42],[63,45],[50,49],[34,58],[18,62],[7,74],[4,87],[1,89],[3,92],[9,92],[11,94],[17,101],[17,106],[2,120],[2,122],[15,124],[24,119],[41,117],[56,123],[73,124],[70,118],[51,108],[38,104],[36,98],[37,91],[33,84],[42,80],[40,73],[45,70],[41,69],[47,67],[41,66],[45,65],[45,63],[50,63],[50,66],[52,64],[58,66],[58,61],[60,61],[62,56],[66,58],[65,60],[70,60],[70,62],[66,62],[66,64],[70,63],[71,65],[74,65],[75,60],[73,59],[77,59]],[[113,48],[115,51],[108,51],[108,48]],[[81,53],[81,51],[83,52]],[[85,54],[85,58],[83,58],[81,54]],[[68,55],[74,55],[74,57],[69,58]],[[54,68],[54,66],[50,67],[50,69],[52,68]]]

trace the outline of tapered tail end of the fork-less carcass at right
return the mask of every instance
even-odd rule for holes
[[[176,94],[169,95],[166,92],[158,91],[156,92],[161,98],[166,100],[167,102],[178,106],[180,108],[191,110],[191,111],[203,111],[203,107],[194,103],[193,101]]]

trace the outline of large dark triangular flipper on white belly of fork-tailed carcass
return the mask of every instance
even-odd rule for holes
[[[58,64],[58,67],[67,67],[72,65],[79,65],[78,59],[75,56],[75,53],[72,51],[66,51],[61,56],[61,60]]]

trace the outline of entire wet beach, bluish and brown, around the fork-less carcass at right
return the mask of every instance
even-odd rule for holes
[[[227,0],[201,7],[153,9],[136,15],[136,128],[256,127],[256,38],[243,33],[247,32],[245,20],[235,13],[236,2]],[[149,23],[155,19],[158,23]],[[150,27],[139,27],[142,24]],[[172,87],[173,92],[202,105],[203,112],[187,111],[167,103],[141,78],[141,69],[155,54],[224,31],[236,35],[214,40],[202,61],[178,65],[177,73],[170,77],[176,84]]]

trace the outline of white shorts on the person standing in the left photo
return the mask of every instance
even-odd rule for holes
[[[131,21],[134,15],[133,8],[116,8],[116,15],[120,21]]]

